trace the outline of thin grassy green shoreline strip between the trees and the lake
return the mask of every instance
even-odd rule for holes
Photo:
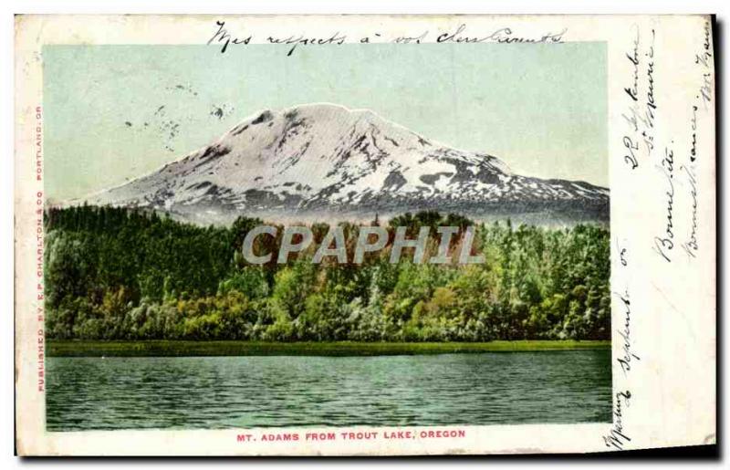
[[[483,352],[610,350],[610,340],[495,340],[489,342],[263,342],[48,339],[47,357],[402,356]]]

